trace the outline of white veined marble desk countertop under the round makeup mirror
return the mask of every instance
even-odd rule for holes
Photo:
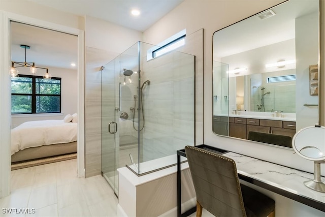
[[[314,174],[243,156],[234,152],[227,152],[222,155],[236,162],[239,174],[325,204],[325,193],[314,191],[304,185],[304,181],[314,179]],[[321,180],[325,182],[324,177],[321,177]]]

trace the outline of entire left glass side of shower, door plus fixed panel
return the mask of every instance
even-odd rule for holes
[[[117,169],[138,163],[138,44],[102,67],[102,174],[118,196]]]

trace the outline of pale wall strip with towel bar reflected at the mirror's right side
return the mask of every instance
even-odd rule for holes
[[[313,21],[313,22],[312,22]],[[296,117],[297,129],[303,129],[318,123],[318,107],[306,107],[318,104],[318,96],[309,95],[309,68],[317,65],[318,50],[318,14],[310,14],[296,19]],[[314,23],[314,25],[311,25]],[[316,61],[315,61],[316,60]],[[306,67],[307,66],[307,67]]]

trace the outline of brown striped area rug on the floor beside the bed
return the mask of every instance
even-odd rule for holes
[[[63,155],[55,156],[55,157],[42,158],[42,159],[30,160],[30,161],[24,161],[24,162],[17,162],[17,163],[11,164],[11,170],[18,170],[18,169],[22,169],[22,168],[26,168],[26,167],[34,167],[34,166],[50,164],[50,163],[59,162],[59,161],[67,161],[67,160],[75,159],[75,158],[77,158],[77,153],[63,154]]]

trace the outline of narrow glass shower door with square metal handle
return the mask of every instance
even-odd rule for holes
[[[102,67],[102,175],[118,196],[119,74],[115,61]]]

